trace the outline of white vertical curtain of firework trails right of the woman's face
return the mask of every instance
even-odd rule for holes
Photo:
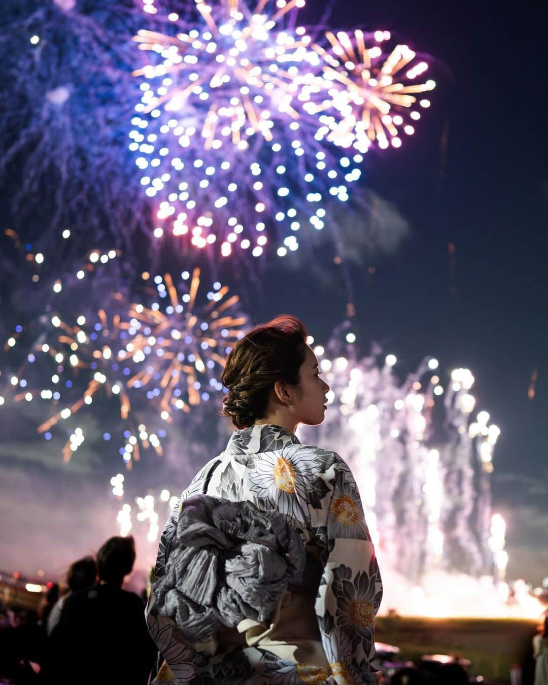
[[[487,412],[473,419],[474,379],[425,358],[403,380],[394,355],[359,358],[347,324],[316,347],[332,387],[325,423],[306,439],[340,451],[356,473],[373,540],[386,564],[418,582],[432,569],[493,574],[489,474],[499,435]],[[413,545],[409,545],[409,540]]]

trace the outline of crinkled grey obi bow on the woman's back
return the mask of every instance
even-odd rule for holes
[[[182,504],[165,573],[155,582],[158,612],[194,649],[212,654],[220,629],[245,619],[266,628],[305,563],[303,540],[282,514],[197,495]]]

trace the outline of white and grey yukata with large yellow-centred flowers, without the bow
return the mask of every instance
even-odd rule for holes
[[[301,584],[288,586],[270,623],[242,621],[214,649],[190,645],[158,609],[181,503],[197,495],[279,512],[306,549]],[[236,430],[182,493],[160,539],[147,623],[165,662],[156,683],[373,685],[373,621],[382,582],[356,482],[338,454],[301,445],[275,425]],[[210,645],[211,647],[211,645]]]

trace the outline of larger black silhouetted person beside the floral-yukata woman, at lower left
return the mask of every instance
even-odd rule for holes
[[[132,537],[110,538],[97,553],[99,585],[67,599],[51,635],[45,680],[55,685],[146,685],[155,657],[142,602],[122,590],[132,572]]]

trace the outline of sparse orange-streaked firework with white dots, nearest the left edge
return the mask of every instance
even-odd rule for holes
[[[109,310],[127,309],[123,308],[120,295],[113,301]],[[97,413],[92,405],[98,400],[101,406],[109,408],[108,419],[103,422],[103,439],[111,440],[116,434],[123,436],[119,453],[128,467],[139,460],[140,448],[154,449],[161,455],[160,436],[165,436],[165,432],[149,432],[140,421],[140,396],[136,397],[140,412],[132,412],[125,383],[129,368],[121,366],[116,358],[123,348],[129,323],[119,313],[107,314],[101,309],[95,316],[77,316],[75,323],[53,314],[41,323],[41,328],[25,364],[11,378],[14,401],[40,399],[53,408],[53,414],[38,425],[38,433],[51,439],[54,427],[65,425],[69,419],[73,423],[84,410]],[[83,429],[77,426],[62,447],[63,460],[68,462],[83,442]]]

